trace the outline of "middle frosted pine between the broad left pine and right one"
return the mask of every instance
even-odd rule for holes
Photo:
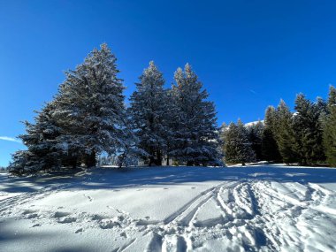
[[[164,117],[169,111],[164,77],[153,61],[143,71],[136,88],[130,98],[129,114],[139,138],[139,148],[143,150],[142,158],[149,159],[149,165],[161,165],[166,149]]]

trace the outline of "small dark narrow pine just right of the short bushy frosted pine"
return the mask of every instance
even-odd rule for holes
[[[256,160],[263,160],[263,130],[264,126],[261,121],[248,126],[248,141],[251,143],[251,148],[256,154]]]

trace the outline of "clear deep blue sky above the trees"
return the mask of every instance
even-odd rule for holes
[[[166,85],[185,63],[215,101],[218,124],[263,118],[295,95],[325,97],[336,83],[335,1],[0,0],[0,138],[50,101],[64,71],[107,42],[126,95],[154,60]],[[0,139],[0,165],[19,142]]]

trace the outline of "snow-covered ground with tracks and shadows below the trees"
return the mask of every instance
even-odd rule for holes
[[[336,169],[0,172],[0,251],[335,251]]]

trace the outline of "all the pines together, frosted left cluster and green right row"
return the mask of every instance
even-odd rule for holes
[[[65,73],[57,94],[34,122],[25,121],[27,146],[12,155],[15,175],[128,165],[223,166],[257,161],[336,166],[336,89],[327,101],[299,94],[292,112],[284,101],[263,121],[218,127],[215,104],[187,64],[172,88],[149,62],[126,106],[117,58],[106,43]],[[165,163],[164,163],[165,162]]]

